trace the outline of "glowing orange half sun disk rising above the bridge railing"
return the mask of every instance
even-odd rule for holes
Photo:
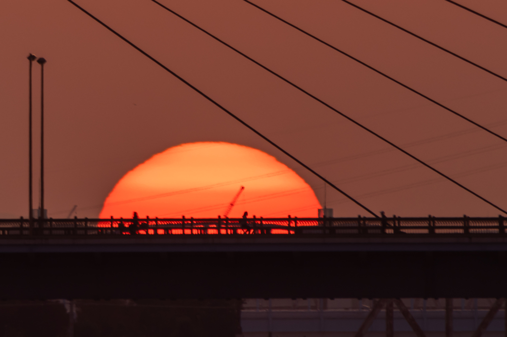
[[[129,171],[104,201],[100,218],[216,218],[241,186],[229,218],[315,217],[320,203],[294,171],[260,150],[225,142],[171,147]]]

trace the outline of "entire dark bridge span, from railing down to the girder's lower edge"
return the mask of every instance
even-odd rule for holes
[[[507,297],[502,218],[429,221],[426,232],[372,219],[345,233],[341,219],[311,226],[238,219],[226,227],[216,219],[183,226],[181,219],[150,220],[144,228],[137,220],[135,232],[136,220],[123,220],[123,228],[115,220],[113,227],[106,227],[111,220],[79,221],[4,223],[0,300]],[[450,231],[437,231],[445,225]],[[275,234],[282,227],[286,234]],[[139,234],[150,230],[164,234]]]

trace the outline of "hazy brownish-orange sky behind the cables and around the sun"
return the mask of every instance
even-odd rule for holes
[[[77,2],[375,212],[498,215],[151,1]],[[507,144],[241,0],[161,2],[507,207]],[[353,2],[507,76],[507,29],[443,0]],[[507,23],[504,1],[459,2]],[[255,3],[507,137],[507,82],[339,0]],[[30,52],[48,61],[50,217],[65,217],[74,205],[78,216],[97,217],[108,193],[136,165],[171,146],[200,141],[265,151],[295,170],[323,203],[318,179],[65,0],[3,0],[0,217],[27,216]],[[38,131],[39,66],[34,69]],[[38,132],[35,140],[38,150]],[[35,191],[38,181],[36,174]],[[328,206],[336,216],[367,215],[330,188]]]

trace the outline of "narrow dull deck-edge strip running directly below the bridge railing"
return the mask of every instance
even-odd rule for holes
[[[87,235],[0,236],[13,252],[443,252],[507,251],[507,235]]]

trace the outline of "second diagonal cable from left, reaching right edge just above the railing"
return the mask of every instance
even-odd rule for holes
[[[67,1],[70,1],[70,0],[67,0]],[[225,41],[221,40],[220,38],[216,37],[215,35],[209,33],[208,31],[204,30],[203,28],[199,27],[198,25],[196,25],[195,23],[191,22],[190,20],[184,18],[183,16],[177,14],[176,12],[174,12],[173,10],[167,8],[166,6],[160,4],[158,1],[156,0],[151,0],[153,1],[154,3],[156,3],[157,5],[159,5],[160,7],[164,8],[165,10],[171,12],[172,14],[176,15],[177,17],[179,17],[180,19],[182,20],[185,20],[186,22],[188,22],[189,24],[191,24],[192,26],[196,27],[197,29],[201,30],[202,32],[206,33],[207,35],[211,36],[212,38],[214,38],[216,41],[219,41],[221,44],[223,44],[224,46],[227,46],[228,48],[232,49],[233,51],[235,51],[236,53],[240,54],[241,56],[245,57],[246,59],[248,59],[249,61],[257,64],[258,66],[262,67],[263,69],[269,71],[271,74],[275,75],[276,77],[280,78],[281,80],[285,81],[286,83],[288,83],[289,85],[293,86],[294,88],[298,89],[299,91],[301,91],[302,93],[308,95],[309,97],[313,98],[314,100],[316,100],[317,102],[321,103],[322,105],[324,105],[325,107],[335,111],[336,113],[338,113],[339,115],[341,115],[342,117],[345,117],[346,119],[348,119],[349,121],[351,121],[352,123],[356,124],[359,128],[369,132],[370,134],[374,135],[375,137],[379,138],[380,140],[384,141],[385,143],[389,144],[390,146],[394,147],[395,149],[403,152],[404,154],[408,155],[409,157],[411,157],[412,159],[416,160],[417,162],[421,163],[422,165],[428,167],[431,171],[439,174],[440,176],[444,177],[445,179],[449,180],[450,182],[454,183],[455,185],[461,187],[462,189],[464,189],[465,191],[473,194],[474,196],[478,197],[479,199],[485,201],[486,203],[490,204],[491,206],[495,207],[496,209],[500,210],[501,212],[507,214],[507,212],[505,210],[503,210],[502,208],[500,208],[499,206],[495,205],[494,203],[492,203],[491,201],[483,198],[482,196],[480,196],[479,194],[477,194],[476,192],[468,189],[467,187],[461,185],[460,183],[458,183],[457,181],[455,181],[454,179],[452,179],[451,177],[443,174],[442,172],[440,172],[439,170],[437,170],[436,168],[434,168],[433,166],[427,164],[426,162],[422,161],[421,159],[417,158],[416,156],[410,154],[409,152],[405,151],[404,149],[402,149],[401,147],[395,145],[394,143],[388,141],[387,139],[385,139],[384,137],[380,136],[379,134],[375,133],[373,130],[365,127],[365,125],[357,122],[356,120],[352,119],[351,117],[347,116],[346,114],[344,114],[343,112],[335,109],[333,106],[329,105],[328,103],[325,103],[324,101],[322,101],[321,99],[317,98],[316,96],[310,94],[309,92],[307,92],[306,90],[304,90],[303,88],[297,86],[295,83],[289,81],[288,79],[286,79],[285,77],[279,75],[278,73],[274,72],[273,70],[269,69],[268,67],[264,66],[263,64],[257,62],[256,60],[252,59],[251,57],[247,56],[246,54],[240,52],[239,50],[237,50],[236,48],[232,47],[231,45],[227,44]],[[243,1],[246,1],[248,2],[247,0],[243,0]],[[249,3],[249,2],[248,2]],[[256,6],[256,5],[254,5]],[[257,7],[257,6],[256,6]]]

